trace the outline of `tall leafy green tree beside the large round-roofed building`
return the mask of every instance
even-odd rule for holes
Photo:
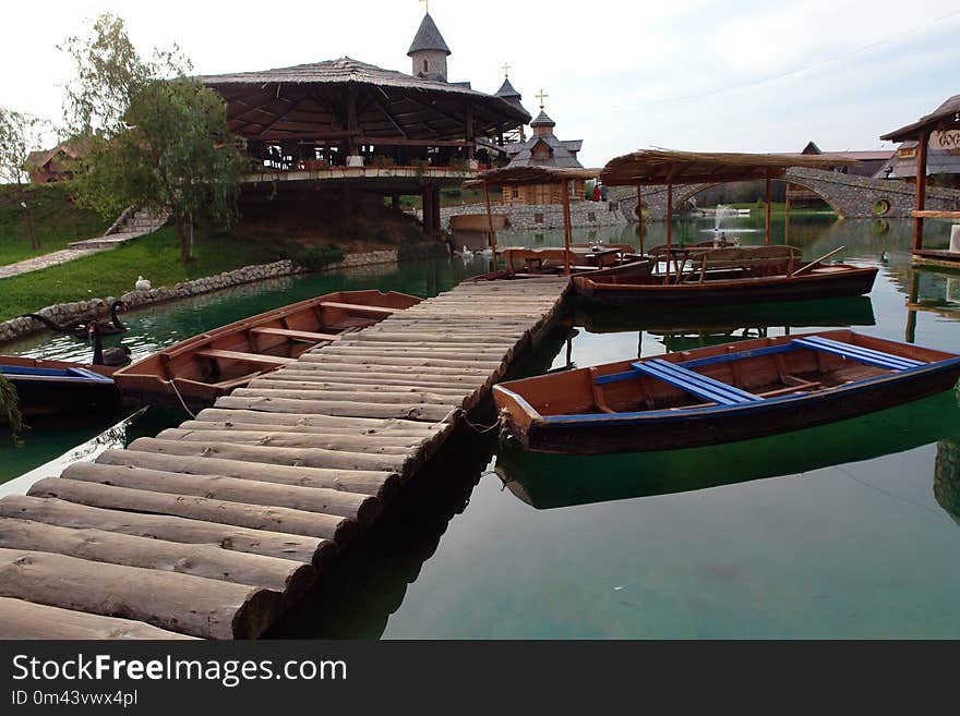
[[[190,63],[176,48],[141,58],[113,15],[64,49],[77,65],[64,119],[87,146],[77,203],[106,218],[129,206],[169,213],[180,258],[189,260],[196,223],[223,230],[237,217],[245,159],[224,101],[188,76]]]

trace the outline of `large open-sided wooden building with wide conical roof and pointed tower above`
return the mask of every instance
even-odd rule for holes
[[[421,194],[424,228],[439,232],[440,189],[476,175],[478,139],[530,121],[516,104],[448,82],[449,53],[427,14],[408,51],[413,74],[344,57],[201,77],[247,141],[253,187],[241,202],[277,187],[300,198],[336,189],[350,206]]]

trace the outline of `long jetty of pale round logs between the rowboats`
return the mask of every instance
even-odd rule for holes
[[[0,639],[259,636],[430,460],[567,283],[463,283],[0,499]]]

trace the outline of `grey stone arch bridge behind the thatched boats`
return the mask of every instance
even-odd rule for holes
[[[896,180],[853,177],[836,171],[804,167],[788,169],[784,179],[791,184],[814,192],[838,215],[847,219],[910,218],[916,205],[916,192],[913,184]],[[715,185],[675,184],[673,186],[673,210],[680,210],[691,197]],[[632,218],[637,216],[636,187],[612,187],[610,198],[620,203],[620,208],[625,216]],[[667,218],[667,186],[644,186],[643,202],[648,211],[648,218],[655,220]],[[928,187],[926,208],[938,211],[960,210],[960,191]]]

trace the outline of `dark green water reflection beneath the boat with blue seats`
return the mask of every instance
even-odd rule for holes
[[[756,440],[609,456],[529,452],[507,444],[496,473],[537,509],[670,495],[871,460],[940,440],[934,493],[960,514],[960,409],[951,392],[862,417]],[[952,445],[952,453],[943,449]],[[950,459],[952,454],[952,459]],[[949,505],[949,507],[948,507]]]

